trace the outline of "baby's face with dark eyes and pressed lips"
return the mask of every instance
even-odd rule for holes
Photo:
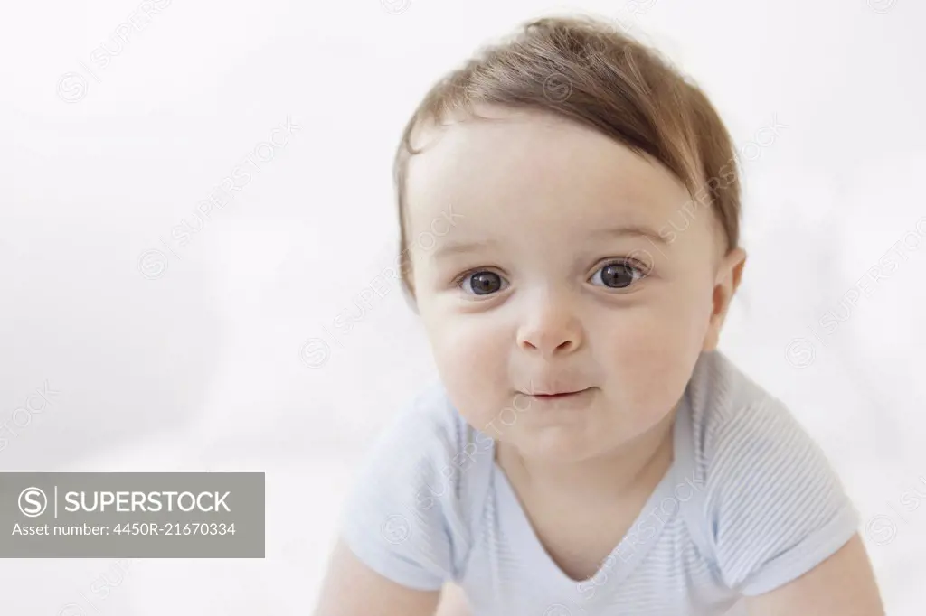
[[[713,348],[720,230],[606,136],[493,115],[426,133],[411,160],[419,314],[470,425],[524,455],[606,453],[665,418]]]

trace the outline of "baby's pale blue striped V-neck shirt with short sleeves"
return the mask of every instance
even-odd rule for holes
[[[341,536],[396,584],[462,587],[473,616],[745,614],[742,598],[807,573],[857,533],[858,511],[782,401],[720,351],[698,358],[673,460],[593,577],[545,551],[494,439],[435,382],[376,438]]]

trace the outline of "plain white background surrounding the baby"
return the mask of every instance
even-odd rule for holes
[[[266,471],[267,558],[132,561],[104,600],[89,589],[115,561],[0,560],[0,612],[311,610],[358,456],[435,374],[395,283],[349,334],[333,326],[394,263],[400,131],[477,46],[581,9],[692,75],[747,154],[749,260],[722,348],[878,522],[888,613],[922,613],[926,506],[899,504],[926,494],[926,240],[904,243],[926,216],[922,3],[173,0],[100,68],[139,6],[0,19],[0,423],[16,431],[0,470]],[[301,128],[236,199],[171,240],[287,118]],[[895,273],[841,304],[898,241]],[[845,321],[825,333],[831,310]],[[310,367],[313,338],[328,347]],[[45,384],[52,401],[14,423]]]

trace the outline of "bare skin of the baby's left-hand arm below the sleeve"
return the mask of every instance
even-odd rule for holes
[[[440,598],[440,591],[412,590],[382,577],[339,541],[314,616],[433,616]]]

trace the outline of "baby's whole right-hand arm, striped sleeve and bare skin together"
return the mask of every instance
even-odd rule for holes
[[[707,544],[749,616],[883,616],[858,512],[787,407],[761,400],[711,438]]]

